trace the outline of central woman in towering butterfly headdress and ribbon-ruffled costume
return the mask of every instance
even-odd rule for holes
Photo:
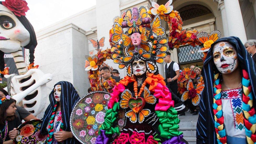
[[[96,143],[184,143],[177,114],[185,106],[166,87],[156,65],[166,56],[164,35],[160,17],[152,20],[145,7],[128,9],[114,18],[112,57],[120,69],[126,67],[127,76],[113,88]],[[125,120],[116,121],[116,117]]]

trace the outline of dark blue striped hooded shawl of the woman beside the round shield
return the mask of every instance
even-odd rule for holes
[[[70,82],[61,81],[56,83],[54,87],[58,84],[61,85],[61,98],[60,98],[61,116],[62,116],[61,130],[71,131],[70,125],[69,125],[70,115],[74,105],[78,102],[80,97],[76,89],[73,87],[73,85]],[[53,114],[55,115],[54,108],[56,107],[56,100],[54,98],[54,89],[52,89],[49,95],[49,100],[50,100],[50,104],[45,110],[45,114],[42,122],[42,127],[41,127],[42,134],[48,134],[47,125],[49,124],[51,116]],[[63,144],[70,144],[70,143],[75,144],[79,142],[75,138],[68,138],[65,141],[63,141]]]

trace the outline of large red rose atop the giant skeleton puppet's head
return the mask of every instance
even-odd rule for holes
[[[25,12],[29,10],[28,3],[24,0],[6,0],[2,4],[19,17],[26,15]]]

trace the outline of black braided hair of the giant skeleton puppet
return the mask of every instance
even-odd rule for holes
[[[0,1],[0,4],[2,4],[2,1]],[[16,16],[16,17],[19,19],[19,21],[22,23],[25,29],[28,30],[30,34],[30,42],[28,45],[24,46],[24,48],[29,49],[29,63],[33,63],[35,58],[34,57],[35,47],[37,45],[35,30],[25,16],[21,15],[20,17],[19,16]],[[0,50],[0,70],[1,71],[4,70],[4,52],[2,52],[1,50]],[[1,76],[3,77],[3,74],[1,74]]]

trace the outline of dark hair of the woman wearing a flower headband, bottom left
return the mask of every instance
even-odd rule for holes
[[[0,99],[2,99],[3,97],[0,97]],[[0,124],[5,124],[5,121],[12,121],[14,120],[15,117],[17,117],[17,115],[13,115],[13,116],[8,116],[7,117],[7,114],[6,114],[6,110],[9,108],[9,106],[15,102],[16,103],[16,100],[15,99],[8,99],[8,100],[5,100],[2,104],[0,104]]]

